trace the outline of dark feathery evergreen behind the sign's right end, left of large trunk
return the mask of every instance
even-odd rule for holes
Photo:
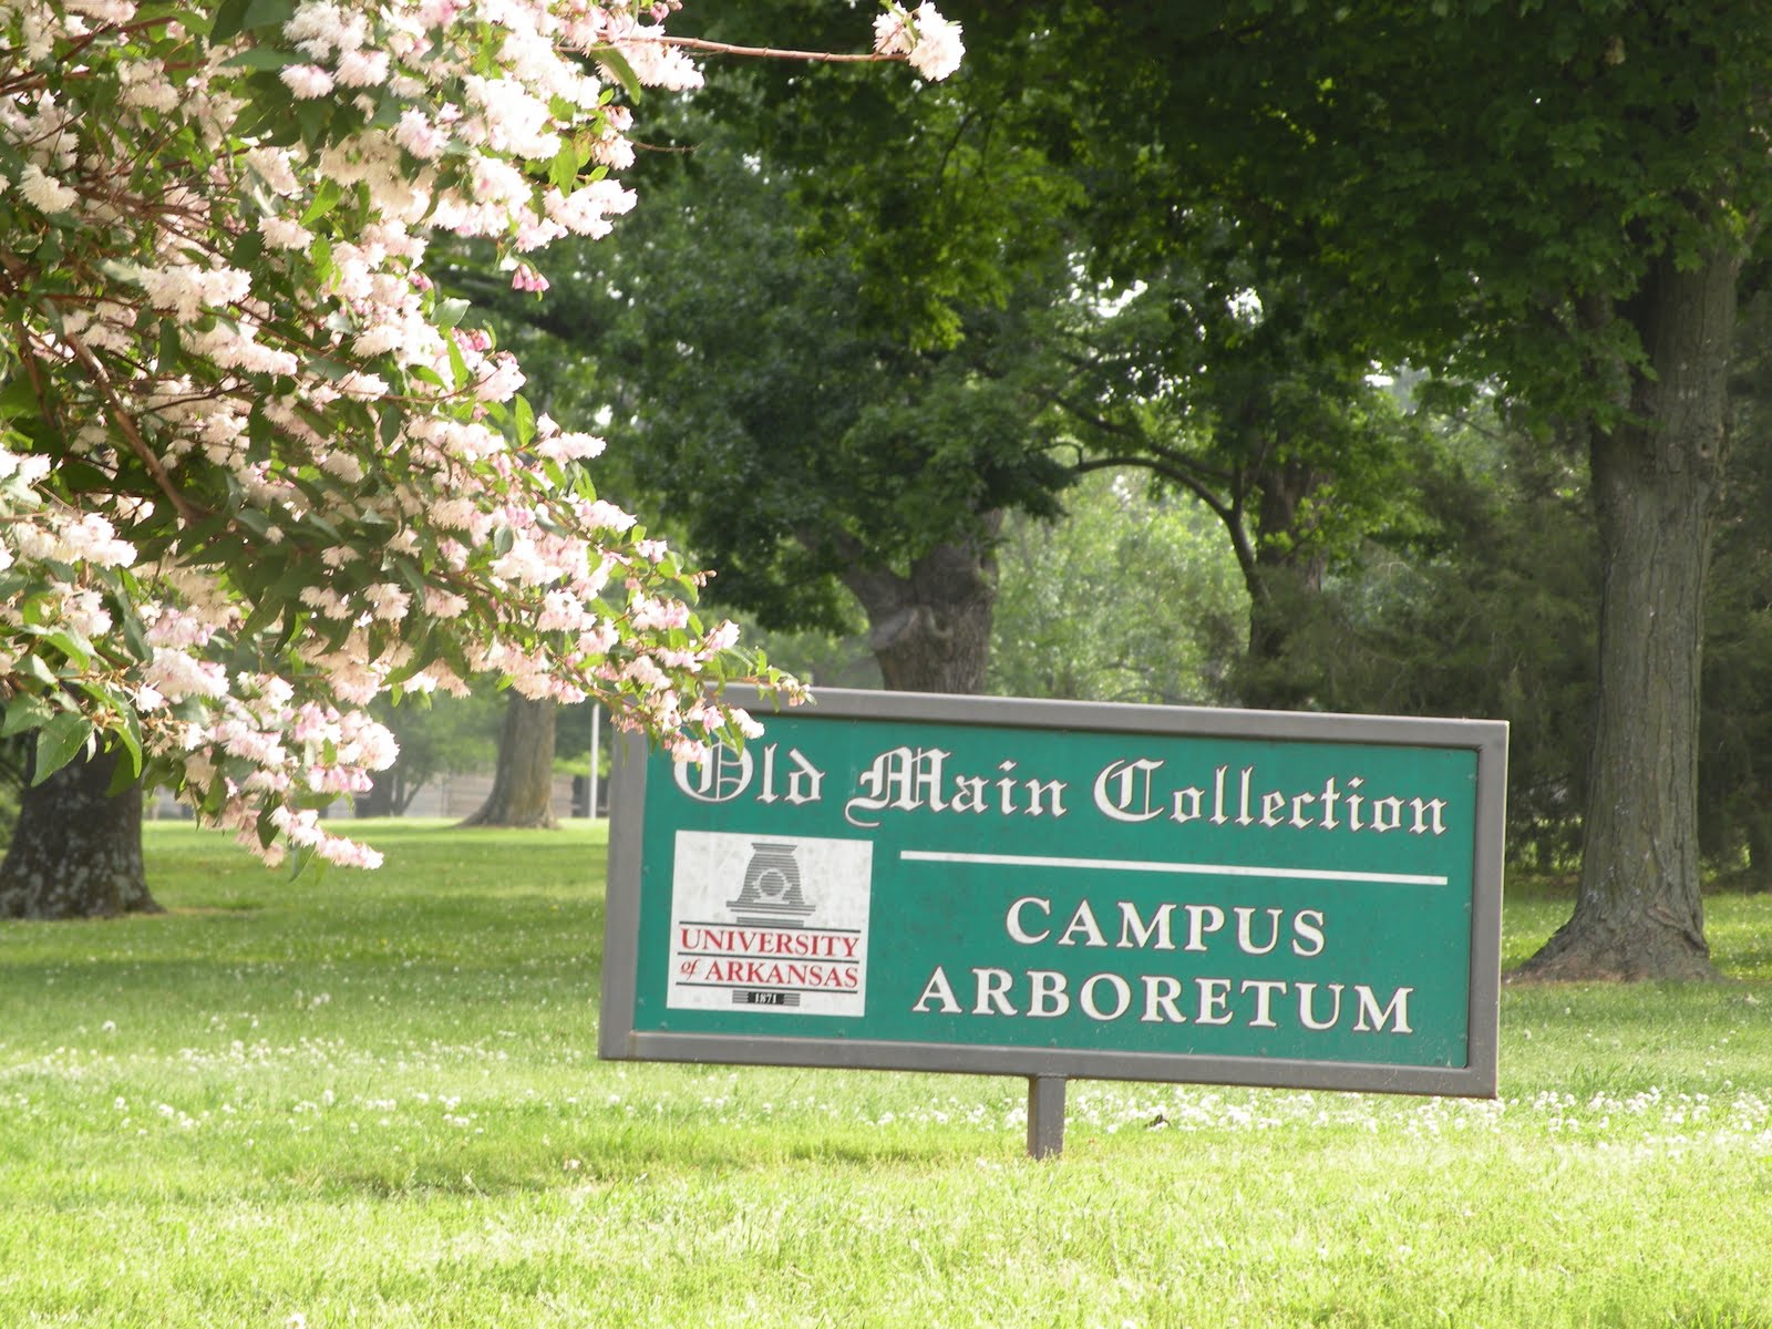
[[[1565,875],[1581,852],[1598,551],[1579,448],[1512,427],[1504,406],[1432,416],[1423,525],[1336,565],[1283,668],[1329,711],[1506,719],[1510,858]]]

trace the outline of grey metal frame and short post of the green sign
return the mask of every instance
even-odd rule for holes
[[[599,1056],[606,1060],[728,1065],[849,1067],[1024,1076],[1030,1081],[1030,1152],[1061,1141],[1067,1077],[1494,1097],[1499,1044],[1501,881],[1508,727],[1492,719],[1416,719],[1276,711],[1040,702],[994,696],[820,689],[799,714],[980,728],[1033,728],[1113,735],[1467,750],[1476,758],[1471,843],[1465,1065],[1387,1065],[1347,1060],[1141,1053],[1099,1047],[810,1038],[636,1030],[640,978],[641,842],[649,789],[659,762],[624,735],[611,787],[610,884],[602,964]],[[766,725],[767,725],[767,718]],[[1056,1090],[1054,1090],[1056,1086]],[[1054,1125],[1054,1113],[1058,1115]],[[1040,1136],[1037,1139],[1037,1136]]]

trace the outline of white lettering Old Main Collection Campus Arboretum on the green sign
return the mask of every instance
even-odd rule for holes
[[[742,753],[716,748],[705,762],[677,766],[675,783],[700,803],[748,799],[762,804],[808,804],[822,803],[828,796],[826,773],[797,748],[781,751],[780,744],[762,746],[755,755],[750,748]],[[856,789],[849,790],[842,810],[843,820],[863,831],[877,829],[888,817],[900,813],[1063,819],[1079,810],[1122,826],[1200,822],[1294,836],[1437,838],[1448,831],[1446,799],[1412,790],[1370,789],[1361,774],[1331,774],[1322,783],[1294,789],[1272,787],[1255,764],[1223,764],[1178,778],[1171,764],[1161,758],[1118,757],[1102,766],[1086,789],[1077,789],[1065,780],[1030,778],[1012,760],[985,773],[953,769],[953,753],[909,744],[874,757],[858,776]],[[904,858],[973,856],[905,852]],[[999,861],[1058,863],[1015,856],[1001,856]],[[1072,863],[1104,870],[1120,867],[1139,874],[1173,868],[1212,875],[1210,865],[1102,859]],[[1263,875],[1249,868],[1219,872]],[[1382,879],[1382,874],[1375,874],[1375,879]],[[1230,968],[1216,960],[1272,957],[1285,960],[1290,973],[1302,969],[1315,975],[1313,960],[1333,962],[1334,920],[1320,907],[1232,905],[1180,897],[1131,900],[1115,898],[1113,888],[1079,893],[1076,888],[1030,886],[1006,904],[1003,934],[1017,948],[1028,948],[1026,968],[937,964],[911,1010],[987,1019],[1074,1021],[1081,1015],[1095,1022],[1414,1033],[1409,1021],[1414,987],[1373,989],[1345,976],[1343,982],[1331,982],[1329,976],[1235,978],[1207,973]],[[792,953],[787,937],[781,950]],[[1162,955],[1168,962],[1161,968],[1166,971],[1127,973],[1113,968],[1109,957],[1131,952],[1138,952],[1145,962]],[[1090,953],[1104,962],[1097,973],[1079,978],[1077,969],[1092,966],[1077,964],[1076,959]],[[1044,968],[1042,957],[1053,968]],[[1058,964],[1067,968],[1060,969]]]

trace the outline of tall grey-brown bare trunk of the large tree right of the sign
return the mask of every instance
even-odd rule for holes
[[[1605,581],[1575,913],[1526,978],[1714,978],[1698,875],[1705,574],[1722,478],[1737,264],[1659,264],[1630,418],[1593,434]]]

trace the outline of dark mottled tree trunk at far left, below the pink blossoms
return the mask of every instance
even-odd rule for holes
[[[112,796],[117,753],[76,758],[19,801],[0,918],[161,913],[142,868],[142,785]]]

